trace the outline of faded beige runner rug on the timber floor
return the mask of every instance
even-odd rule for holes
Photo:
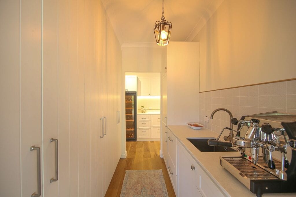
[[[162,170],[126,170],[121,197],[168,196]]]

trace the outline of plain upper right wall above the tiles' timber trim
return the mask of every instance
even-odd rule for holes
[[[200,91],[296,78],[296,1],[224,0],[200,42]]]

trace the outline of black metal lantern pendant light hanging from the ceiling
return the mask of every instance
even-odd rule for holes
[[[161,21],[156,21],[154,26],[154,35],[156,43],[160,46],[168,45],[170,40],[170,32],[172,31],[172,23],[161,17]]]

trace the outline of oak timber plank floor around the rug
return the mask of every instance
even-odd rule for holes
[[[126,159],[120,159],[105,196],[120,196],[126,170],[163,170],[169,196],[176,196],[163,158],[159,156],[160,141],[126,142]],[[135,185],[136,187],[136,185]]]

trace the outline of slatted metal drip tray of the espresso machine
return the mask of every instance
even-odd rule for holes
[[[251,180],[278,180],[276,176],[242,157],[219,157],[221,166],[250,189]],[[280,165],[280,164],[279,164]]]

